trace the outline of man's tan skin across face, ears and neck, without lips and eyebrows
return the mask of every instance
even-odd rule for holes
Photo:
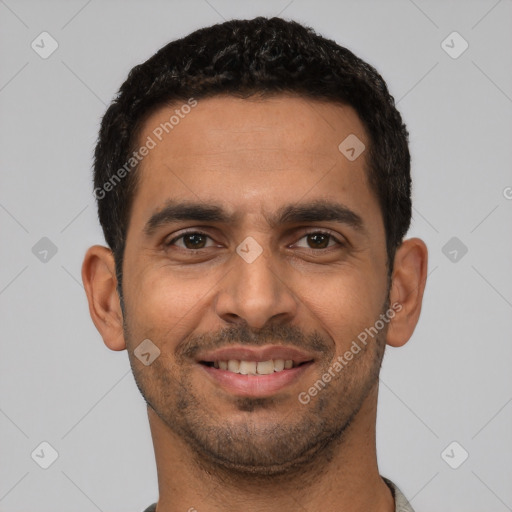
[[[150,116],[140,140],[174,108]],[[148,403],[158,512],[292,511],[298,503],[306,510],[394,510],[376,460],[378,373],[386,343],[405,344],[418,321],[427,249],[419,239],[404,241],[389,286],[365,152],[351,162],[338,150],[349,134],[368,148],[347,106],[290,96],[200,100],[137,171],[124,315],[111,251],[87,252],[82,277],[92,319],[109,348],[128,350]],[[148,220],[170,200],[218,204],[236,217],[173,221],[148,234]],[[269,222],[285,205],[313,201],[350,209],[360,228]],[[175,240],[184,230],[203,236]],[[236,251],[247,237],[262,250],[251,263]],[[378,335],[301,403],[299,394],[395,303],[400,310]],[[160,350],[148,366],[134,355],[145,339]],[[267,345],[299,348],[313,362],[266,396],[226,390],[197,361],[205,349]]]

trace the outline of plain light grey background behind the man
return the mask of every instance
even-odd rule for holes
[[[80,278],[87,247],[104,243],[99,121],[131,67],[169,40],[279,13],[375,65],[411,133],[409,234],[427,243],[430,276],[412,340],[384,360],[381,473],[417,512],[512,510],[511,0],[0,0],[0,511],[137,512],[156,500],[144,401],[126,352],[96,332]],[[31,48],[43,31],[59,45],[47,59]],[[469,43],[456,59],[442,46],[453,31]],[[59,454],[48,469],[36,463],[49,460],[43,441]]]

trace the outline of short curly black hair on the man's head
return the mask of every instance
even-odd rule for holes
[[[408,132],[386,83],[372,66],[313,29],[257,17],[168,43],[130,71],[108,107],[94,153],[94,186],[119,292],[137,186],[138,166],[130,158],[144,121],[157,109],[190,98],[282,94],[349,105],[359,115],[369,137],[366,172],[383,216],[391,273],[411,221],[411,177]]]

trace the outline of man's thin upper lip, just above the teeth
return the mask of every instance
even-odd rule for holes
[[[312,361],[314,357],[297,348],[283,345],[266,345],[264,347],[244,345],[201,352],[196,359],[198,362],[229,361],[230,359],[261,362],[270,361],[271,359],[284,359],[285,361],[292,360],[294,363],[298,364]]]

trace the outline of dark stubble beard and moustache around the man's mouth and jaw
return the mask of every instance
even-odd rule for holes
[[[388,305],[387,300],[382,312]],[[124,320],[127,346],[135,348],[126,316]],[[342,443],[343,434],[377,384],[385,335],[383,329],[308,404],[301,404],[295,395],[218,395],[218,409],[231,410],[233,419],[216,415],[215,407],[209,407],[194,391],[190,358],[199,348],[244,341],[254,345],[281,341],[322,353],[323,360],[318,361],[321,369],[317,370],[320,378],[334,362],[332,343],[316,332],[304,336],[293,326],[268,326],[255,334],[244,325],[237,325],[183,343],[176,363],[162,354],[164,357],[159,356],[146,367],[134,358],[132,351],[129,356],[137,387],[147,405],[185,442],[198,465],[210,471],[268,478],[325,466],[333,447]],[[185,361],[188,365],[180,364]],[[308,387],[312,384],[313,381],[308,383]]]

